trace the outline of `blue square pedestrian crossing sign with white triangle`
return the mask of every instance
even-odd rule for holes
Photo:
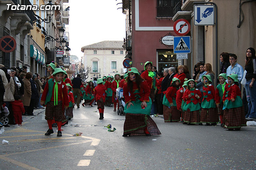
[[[190,53],[190,36],[174,37],[174,53]]]

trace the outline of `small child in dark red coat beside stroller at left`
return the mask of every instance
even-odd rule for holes
[[[20,96],[19,95],[14,96],[14,101],[11,103],[12,103],[12,111],[14,115],[15,125],[18,125],[18,127],[20,127],[22,123],[22,114],[25,113],[25,109],[22,104],[22,101],[20,100]]]

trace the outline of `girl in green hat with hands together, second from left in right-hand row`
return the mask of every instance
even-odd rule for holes
[[[184,114],[182,116],[183,124],[199,124],[200,123],[200,98],[202,94],[196,88],[196,82],[193,79],[188,80],[187,90],[184,92]]]

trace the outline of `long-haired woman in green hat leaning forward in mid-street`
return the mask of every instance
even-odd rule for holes
[[[156,123],[150,117],[152,105],[149,98],[150,88],[140,77],[137,68],[128,68],[128,80],[124,84],[123,91],[126,102],[123,137],[160,135]],[[148,129],[148,127],[150,128]]]

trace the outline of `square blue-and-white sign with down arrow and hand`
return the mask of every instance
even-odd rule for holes
[[[194,25],[214,25],[214,5],[194,5]]]

